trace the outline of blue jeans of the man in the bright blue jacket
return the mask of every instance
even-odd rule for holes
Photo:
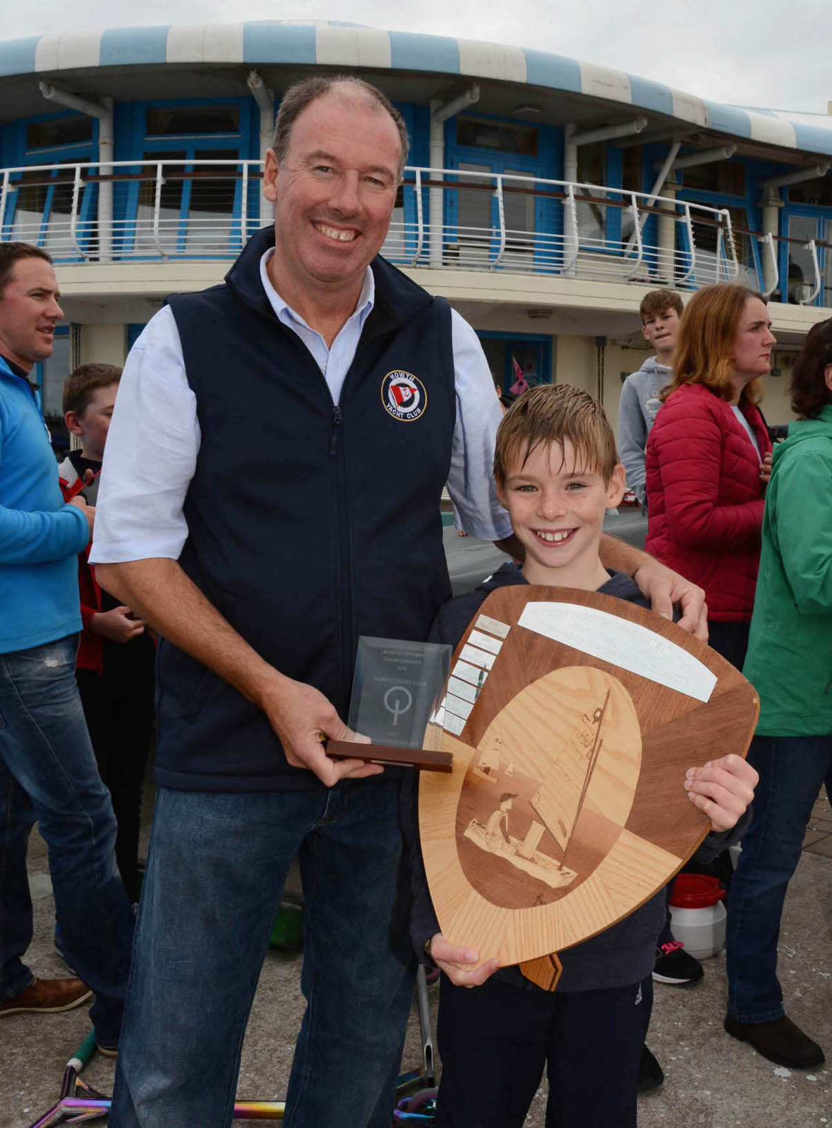
[[[68,963],[96,993],[98,1040],[115,1046],[133,915],[115,862],[116,826],[76,686],[74,637],[0,654],[0,999],[33,980],[26,847],[37,820],[48,847]]]

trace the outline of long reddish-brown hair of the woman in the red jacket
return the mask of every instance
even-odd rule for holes
[[[662,388],[662,400],[683,384],[703,384],[722,399],[734,397],[734,338],[749,298],[765,303],[761,293],[744,285],[708,285],[693,294],[679,323],[673,377]],[[762,380],[746,384],[743,395],[759,404]]]

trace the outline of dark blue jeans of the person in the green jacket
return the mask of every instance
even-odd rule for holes
[[[753,1023],[784,1014],[777,979],[782,902],[812,805],[832,766],[832,737],[754,737],[749,764],[760,783],[731,883],[727,971],[728,1014]]]

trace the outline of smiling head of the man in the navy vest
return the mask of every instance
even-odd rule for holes
[[[311,292],[361,287],[390,226],[400,160],[393,120],[348,87],[298,115],[283,162],[266,156],[264,193],[275,205],[269,273],[278,289],[282,280]]]

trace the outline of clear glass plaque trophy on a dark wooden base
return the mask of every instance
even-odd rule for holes
[[[439,750],[442,730],[431,717],[442,702],[452,650],[362,635],[347,724],[372,746],[330,740],[327,754],[450,770],[451,757]]]

